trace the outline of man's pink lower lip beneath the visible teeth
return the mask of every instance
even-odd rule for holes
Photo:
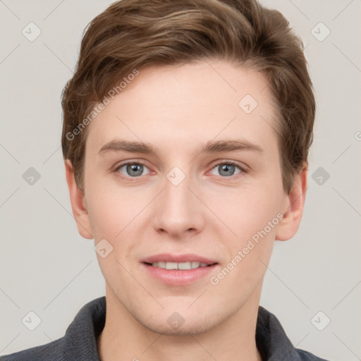
[[[142,265],[155,279],[171,286],[185,286],[194,283],[207,276],[218,266],[218,264],[212,264],[212,266],[194,269],[164,269],[146,263],[142,263]]]

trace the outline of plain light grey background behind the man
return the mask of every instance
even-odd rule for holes
[[[63,336],[105,294],[94,240],[78,234],[71,212],[60,96],[82,30],[112,2],[0,0],[0,355]],[[317,118],[300,230],[276,242],[260,303],[295,347],[361,360],[361,1],[262,4],[303,39]],[[40,178],[29,184],[31,167]],[[29,312],[41,320],[33,331],[22,322]]]

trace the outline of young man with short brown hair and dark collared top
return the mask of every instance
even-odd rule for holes
[[[63,92],[78,231],[106,296],[10,360],[322,360],[259,306],[298,231],[314,95],[281,13],[243,0],[122,0]]]

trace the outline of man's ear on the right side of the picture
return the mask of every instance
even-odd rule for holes
[[[283,219],[276,231],[276,240],[289,240],[298,231],[307,190],[308,166],[304,164],[302,171],[295,176],[293,187],[285,197],[283,204]]]

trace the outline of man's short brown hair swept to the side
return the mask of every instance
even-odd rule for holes
[[[84,126],[91,120],[79,129],[80,121],[119,80],[147,66],[213,58],[267,75],[283,189],[289,193],[307,164],[316,105],[302,40],[279,11],[257,0],[121,0],[85,30],[75,73],[62,94],[63,157],[71,160],[80,190],[89,128]]]

